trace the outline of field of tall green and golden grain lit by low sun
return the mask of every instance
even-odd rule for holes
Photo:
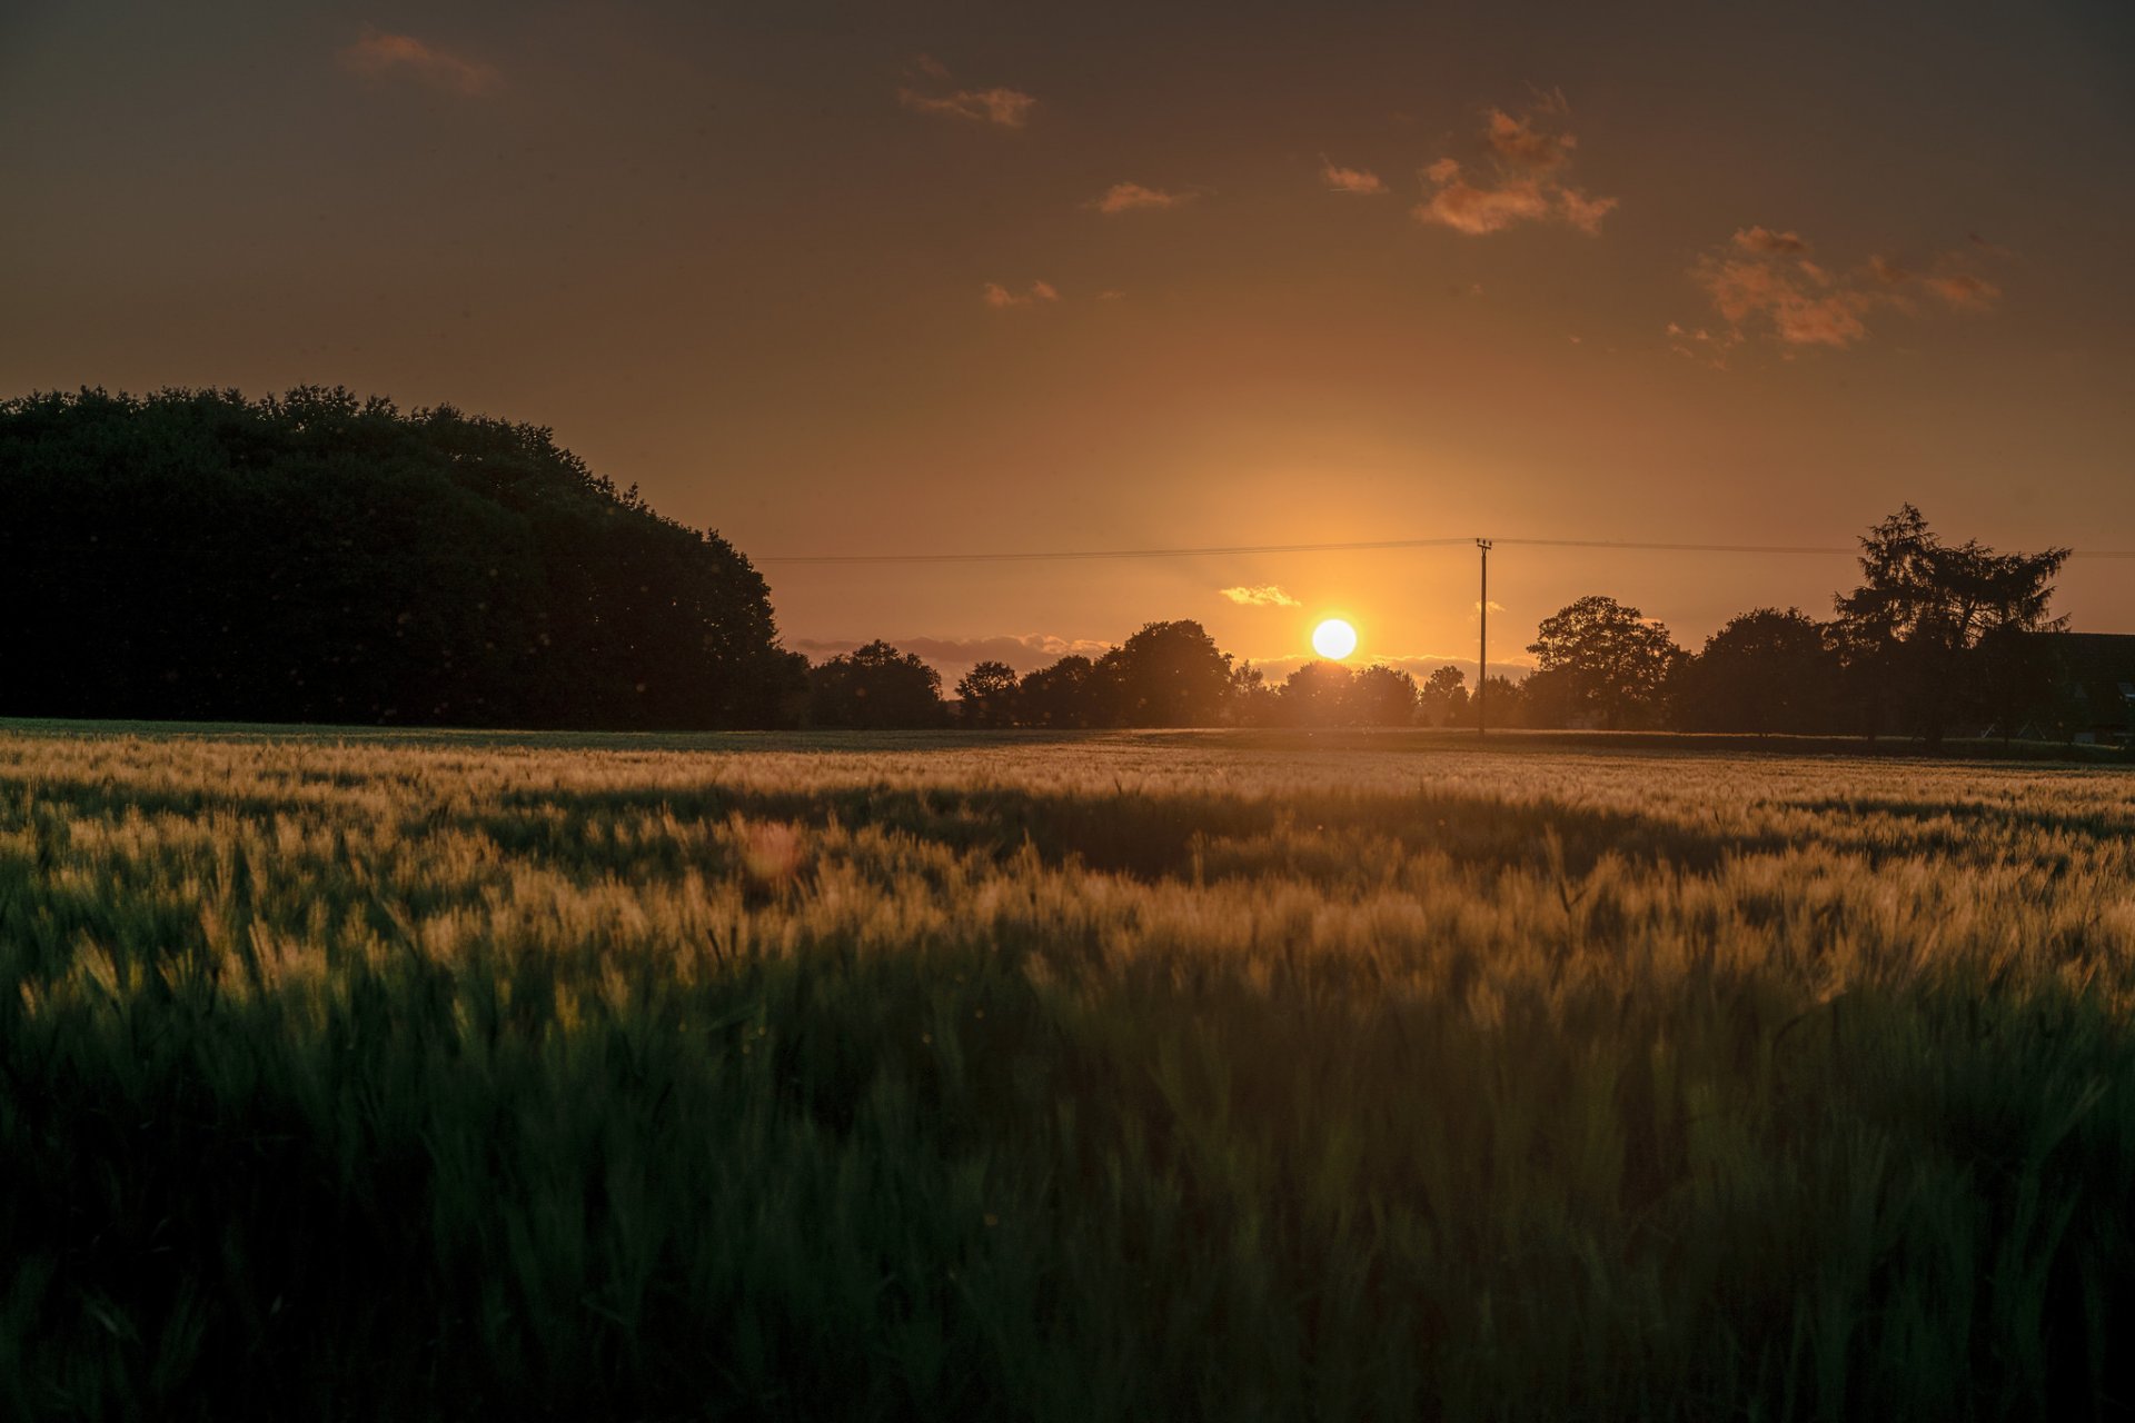
[[[2131,792],[0,728],[0,1412],[2118,1417]]]

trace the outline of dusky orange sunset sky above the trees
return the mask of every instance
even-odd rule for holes
[[[0,397],[529,420],[950,681],[1198,619],[1492,670],[2135,548],[2135,11],[0,2]],[[2135,559],[2056,608],[2135,631]]]

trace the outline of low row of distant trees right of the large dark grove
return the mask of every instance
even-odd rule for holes
[[[1830,619],[1757,608],[1699,651],[1606,595],[1541,621],[1535,670],[1490,676],[1492,725],[1904,734],[1939,745],[1975,723],[2011,734],[2056,695],[2050,617],[2067,548],[1996,553],[1947,544],[1907,503],[1862,540],[1862,580]],[[1016,674],[982,661],[956,683],[956,717],[980,728],[1121,725],[1475,725],[1467,674],[1422,683],[1369,666],[1311,661],[1281,685],[1234,663],[1193,621],[1149,623],[1102,657],[1061,657]],[[939,674],[888,642],[809,670],[818,725],[944,725]]]

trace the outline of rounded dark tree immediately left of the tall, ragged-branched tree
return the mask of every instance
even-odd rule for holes
[[[1670,708],[1689,732],[1821,732],[1838,715],[1838,657],[1800,608],[1757,608],[1682,659]]]

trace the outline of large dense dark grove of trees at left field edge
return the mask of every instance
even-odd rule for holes
[[[0,403],[0,599],[9,715],[775,725],[805,666],[547,429],[322,388]]]

